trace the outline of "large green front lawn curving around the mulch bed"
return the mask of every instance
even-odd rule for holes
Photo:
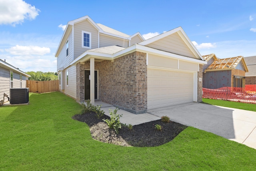
[[[62,93],[30,94],[0,107],[0,170],[254,170],[256,150],[188,127],[158,147],[92,139],[71,117],[82,107]]]

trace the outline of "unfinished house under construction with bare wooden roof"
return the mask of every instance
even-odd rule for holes
[[[215,54],[202,56],[207,64],[203,66],[203,87],[244,87],[248,68],[243,56],[218,59]]]

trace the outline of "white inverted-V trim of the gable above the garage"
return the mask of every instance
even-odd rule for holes
[[[202,58],[201,54],[198,52],[198,50],[196,49],[194,44],[190,41],[190,39],[188,38],[188,36],[186,35],[186,33],[184,32],[182,27],[178,27],[178,28],[175,28],[175,29],[170,30],[168,32],[164,32],[162,34],[159,34],[158,36],[155,36],[153,38],[150,38],[148,40],[140,42],[139,44],[143,45],[143,46],[147,46],[149,44],[152,44],[153,42],[157,42],[157,41],[159,41],[161,39],[164,39],[167,36],[170,36],[170,35],[175,34],[175,33],[177,33],[178,36],[180,36],[182,41],[186,44],[187,48],[192,52],[192,54],[194,55],[194,57],[196,59],[204,60],[204,58]],[[187,56],[187,57],[191,58],[190,56]]]

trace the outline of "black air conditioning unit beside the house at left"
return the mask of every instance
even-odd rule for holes
[[[29,102],[29,88],[10,88],[10,104]]]

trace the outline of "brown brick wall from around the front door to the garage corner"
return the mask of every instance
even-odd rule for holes
[[[84,101],[84,70],[90,70],[90,61],[76,65],[77,100]],[[114,61],[95,62],[98,70],[99,100],[132,113],[147,111],[146,53],[132,52]]]

